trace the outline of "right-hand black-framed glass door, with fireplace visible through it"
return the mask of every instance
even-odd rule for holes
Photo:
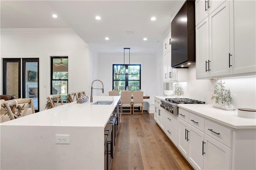
[[[39,58],[22,59],[22,98],[31,98],[39,111]]]

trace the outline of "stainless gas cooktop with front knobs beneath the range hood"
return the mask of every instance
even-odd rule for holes
[[[166,111],[178,115],[178,104],[205,104],[205,102],[188,98],[166,98],[165,100],[161,100],[160,106]]]

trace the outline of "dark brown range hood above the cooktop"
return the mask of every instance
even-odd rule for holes
[[[196,64],[195,27],[195,1],[187,0],[171,24],[173,68],[188,68]]]

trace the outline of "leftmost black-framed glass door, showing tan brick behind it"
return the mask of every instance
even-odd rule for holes
[[[21,97],[20,58],[3,58],[3,95]]]

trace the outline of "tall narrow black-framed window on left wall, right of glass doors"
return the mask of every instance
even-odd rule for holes
[[[68,57],[51,57],[51,94],[68,94]]]

